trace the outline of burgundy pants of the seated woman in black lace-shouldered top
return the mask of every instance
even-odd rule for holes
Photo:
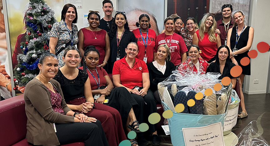
[[[69,105],[81,105],[86,102],[84,97],[76,98],[68,101]],[[79,111],[74,111],[78,112]],[[123,140],[126,140],[126,135],[122,126],[122,119],[118,110],[99,103],[95,103],[94,109],[88,113],[84,113],[88,117],[93,117],[100,120],[106,138],[110,146],[118,146]]]

